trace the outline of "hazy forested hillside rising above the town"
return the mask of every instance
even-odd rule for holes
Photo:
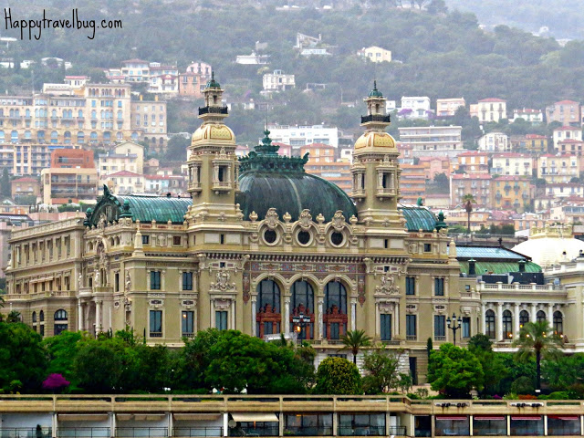
[[[434,2],[436,2],[434,4]],[[83,5],[81,19],[121,19],[123,29],[97,29],[94,39],[87,29],[46,29],[36,41],[11,43],[3,56],[38,60],[62,57],[73,63],[68,74],[90,74],[105,80],[102,69],[120,67],[133,57],[178,64],[183,70],[193,60],[213,65],[229,101],[261,101],[262,75],[282,69],[296,75],[297,89],[276,94],[270,101],[270,121],[281,123],[334,123],[345,130],[358,129],[363,111],[360,99],[377,78],[389,99],[430,96],[432,99],[463,96],[468,103],[487,97],[508,101],[509,109],[543,108],[559,99],[584,100],[584,43],[560,47],[551,37],[533,36],[508,26],[494,31],[479,28],[476,16],[450,11],[440,1],[418,7],[398,7],[396,1],[368,4],[336,2],[332,10],[298,8],[281,10],[274,2],[190,2],[104,0]],[[326,4],[326,3],[325,3]],[[334,3],[333,3],[334,5]],[[343,6],[343,7],[340,7]],[[19,18],[69,17],[65,0],[22,0],[12,5]],[[293,47],[297,32],[322,35],[334,47],[329,57],[301,57]],[[19,37],[12,29],[5,35]],[[236,55],[249,54],[255,42],[266,42],[269,66],[235,64]],[[394,62],[375,65],[358,57],[361,47],[390,49]],[[34,70],[34,71],[33,71]],[[40,89],[43,82],[60,82],[64,70],[41,67],[18,69],[0,75],[0,89]],[[318,91],[303,91],[308,82],[327,84]],[[343,102],[358,102],[355,108]],[[193,131],[198,120],[193,109],[199,102],[172,104],[169,131]],[[240,141],[261,136],[266,114],[235,108],[230,126]]]

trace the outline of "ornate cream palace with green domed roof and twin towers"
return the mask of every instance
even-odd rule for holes
[[[365,99],[350,197],[305,172],[307,156],[279,156],[269,131],[237,159],[222,93],[214,78],[204,89],[188,158],[191,197],[104,188],[86,217],[14,231],[6,308],[44,336],[130,327],[148,343],[180,346],[212,327],[265,339],[295,333],[318,360],[339,354],[347,330],[364,329],[406,351],[414,381],[425,378],[427,339],[454,340],[449,315],[458,316],[462,339],[495,324],[490,313],[485,319],[493,306],[483,292],[502,301],[495,341],[508,339],[505,310],[521,309],[509,295],[531,295],[477,276],[476,266],[521,271],[529,257],[467,248],[459,262],[441,214],[398,203],[398,151],[376,87]],[[545,292],[547,308],[568,306],[565,293]]]

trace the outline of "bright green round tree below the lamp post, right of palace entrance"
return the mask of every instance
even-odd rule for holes
[[[433,391],[449,398],[465,398],[473,389],[482,390],[484,378],[481,362],[468,349],[447,343],[430,355],[428,381]]]

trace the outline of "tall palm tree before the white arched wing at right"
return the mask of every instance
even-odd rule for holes
[[[536,356],[537,385],[541,390],[541,359],[557,358],[563,349],[563,340],[554,333],[547,321],[528,322],[519,331],[519,338],[513,342],[518,360],[527,360]]]

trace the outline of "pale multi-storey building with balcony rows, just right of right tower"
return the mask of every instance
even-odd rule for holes
[[[398,130],[401,144],[412,146],[413,157],[454,157],[464,151],[461,126],[418,126]]]

